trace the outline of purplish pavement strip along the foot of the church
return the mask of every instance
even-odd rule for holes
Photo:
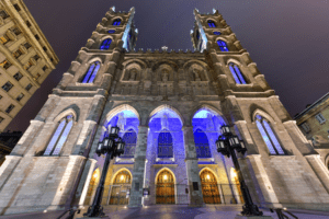
[[[206,205],[201,208],[192,208],[180,205],[155,205],[143,208],[127,208],[125,206],[105,206],[104,212],[111,219],[234,219],[242,210],[241,205]],[[268,209],[260,209],[264,216],[272,216],[273,219],[279,219],[275,212]],[[290,210],[290,209],[288,209]],[[81,209],[75,218],[83,217],[87,207]],[[302,209],[291,209],[298,219],[329,219],[329,211],[313,211]],[[1,216],[0,219],[56,219],[64,211],[48,211]],[[287,215],[287,214],[286,214]],[[63,219],[68,216],[66,214]],[[287,215],[288,218],[292,218]],[[107,217],[107,218],[109,218]]]

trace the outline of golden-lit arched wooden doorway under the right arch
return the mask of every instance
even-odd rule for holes
[[[205,204],[220,204],[220,196],[215,175],[204,170],[200,174],[203,200]]]

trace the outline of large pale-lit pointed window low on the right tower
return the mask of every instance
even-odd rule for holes
[[[270,153],[271,154],[285,154],[281,145],[279,143],[279,140],[276,139],[276,136],[274,135],[270,122],[268,122],[265,118],[263,118],[260,115],[256,115],[256,124],[260,131],[260,134],[263,137],[263,140],[265,141]]]

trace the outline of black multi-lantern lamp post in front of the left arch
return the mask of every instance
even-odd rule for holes
[[[121,155],[124,153],[124,147],[125,142],[118,137],[118,127],[111,127],[109,131],[109,137],[105,137],[102,142],[99,142],[97,154],[106,154],[103,172],[101,175],[101,180],[99,183],[99,186],[95,192],[94,199],[92,201],[92,205],[88,208],[88,211],[83,214],[83,216],[88,217],[102,217],[105,214],[103,212],[103,207],[101,206],[102,201],[102,195],[104,191],[104,183],[106,178],[106,173],[109,169],[109,164],[112,158],[115,158],[117,155]]]

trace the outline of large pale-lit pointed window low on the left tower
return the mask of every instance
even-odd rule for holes
[[[54,132],[52,140],[49,141],[44,155],[58,155],[71,128],[73,126],[73,116],[68,115],[64,117],[59,125],[57,126],[56,131]]]

